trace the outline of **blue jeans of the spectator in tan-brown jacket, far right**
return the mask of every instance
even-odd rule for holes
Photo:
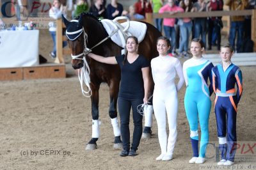
[[[237,40],[236,40],[236,32],[237,32]],[[243,33],[244,33],[244,21],[232,21],[228,40],[234,50],[235,50],[235,40],[236,40],[237,52],[242,52],[241,46],[243,41]]]

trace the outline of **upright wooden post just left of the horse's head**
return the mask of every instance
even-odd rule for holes
[[[62,20],[58,19],[56,20],[56,59],[54,63],[64,63],[62,42]]]

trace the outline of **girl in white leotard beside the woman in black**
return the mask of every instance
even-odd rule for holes
[[[164,36],[157,39],[159,56],[152,59],[152,75],[155,83],[153,108],[158,127],[158,139],[161,155],[156,160],[171,160],[177,139],[177,91],[184,84],[182,66],[179,59],[168,56],[170,40]],[[179,82],[175,84],[176,72]],[[166,112],[169,125],[169,137],[166,133]]]

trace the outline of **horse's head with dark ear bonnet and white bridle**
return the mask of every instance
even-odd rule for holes
[[[80,17],[79,20],[71,20],[68,21],[62,15],[63,22],[66,26],[66,35],[68,38],[68,47],[72,51],[72,66],[74,69],[82,68],[83,57],[84,57],[84,47],[86,47],[86,33],[83,29],[82,20],[83,18]],[[85,39],[84,39],[85,38]]]

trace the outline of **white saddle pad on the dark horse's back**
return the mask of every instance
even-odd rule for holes
[[[106,29],[108,35],[111,35],[111,33],[113,33],[113,31],[115,31],[116,29],[118,29],[118,27],[116,26],[116,24],[112,21],[112,20],[108,20],[108,19],[103,19],[101,20],[102,25],[104,26],[104,28]],[[121,25],[125,28],[127,26],[127,22],[122,23]],[[145,35],[146,35],[146,31],[147,31],[147,25],[142,23],[142,22],[138,22],[138,21],[130,21],[130,27],[127,30],[126,34],[128,36],[136,36],[138,38],[138,42],[142,42],[142,40],[144,39]],[[116,43],[116,45],[125,48],[125,37],[122,34],[122,31],[118,30],[113,36],[111,36],[111,40],[113,42]]]

